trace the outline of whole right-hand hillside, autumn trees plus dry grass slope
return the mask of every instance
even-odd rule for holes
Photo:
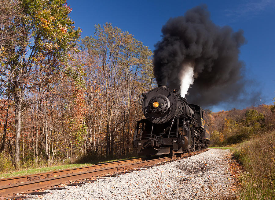
[[[242,164],[235,199],[274,198],[275,105],[206,111],[213,146],[229,146]]]

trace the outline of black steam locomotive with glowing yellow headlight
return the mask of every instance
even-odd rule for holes
[[[145,119],[137,122],[133,145],[139,155],[193,152],[208,147],[209,127],[204,111],[166,85],[142,93]]]

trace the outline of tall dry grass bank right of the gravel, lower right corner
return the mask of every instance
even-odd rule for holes
[[[235,156],[243,164],[237,199],[275,199],[275,132],[240,144]]]

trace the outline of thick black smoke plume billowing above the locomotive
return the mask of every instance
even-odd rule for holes
[[[244,63],[239,61],[245,44],[243,30],[217,26],[205,5],[171,18],[162,27],[162,40],[155,44],[154,74],[158,84],[168,78],[170,89],[180,91],[179,72],[185,62],[194,64],[194,83],[188,102],[202,107],[244,100],[246,81]]]

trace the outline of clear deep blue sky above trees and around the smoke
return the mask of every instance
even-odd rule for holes
[[[172,3],[171,3],[172,2]],[[261,90],[259,100],[273,104],[275,97],[275,1],[73,1],[71,19],[82,29],[82,36],[94,34],[95,24],[112,23],[133,34],[152,51],[161,39],[161,28],[170,17],[184,15],[188,9],[206,4],[212,21],[219,26],[231,26],[244,30],[247,44],[240,48],[240,60],[246,66],[246,77],[255,82],[255,90]],[[253,86],[254,87],[254,86]],[[259,104],[255,102],[255,105]],[[251,105],[247,105],[251,106]],[[239,105],[219,105],[213,111],[243,108]]]

